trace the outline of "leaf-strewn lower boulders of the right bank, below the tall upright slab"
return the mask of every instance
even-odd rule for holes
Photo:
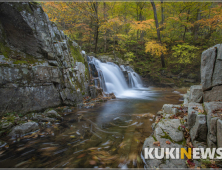
[[[192,87],[191,87],[192,88]],[[165,104],[157,112],[153,133],[145,148],[217,148],[221,147],[222,102],[191,102],[192,93],[184,95],[182,105]],[[209,129],[208,129],[209,128]],[[213,141],[212,141],[213,140]],[[181,152],[179,153],[179,155]],[[144,159],[146,168],[221,168],[218,159]]]

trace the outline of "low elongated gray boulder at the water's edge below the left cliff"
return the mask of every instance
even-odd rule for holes
[[[12,128],[12,131],[9,133],[9,136],[21,136],[29,132],[33,132],[39,129],[38,123],[36,122],[27,122],[21,125],[17,125]]]

